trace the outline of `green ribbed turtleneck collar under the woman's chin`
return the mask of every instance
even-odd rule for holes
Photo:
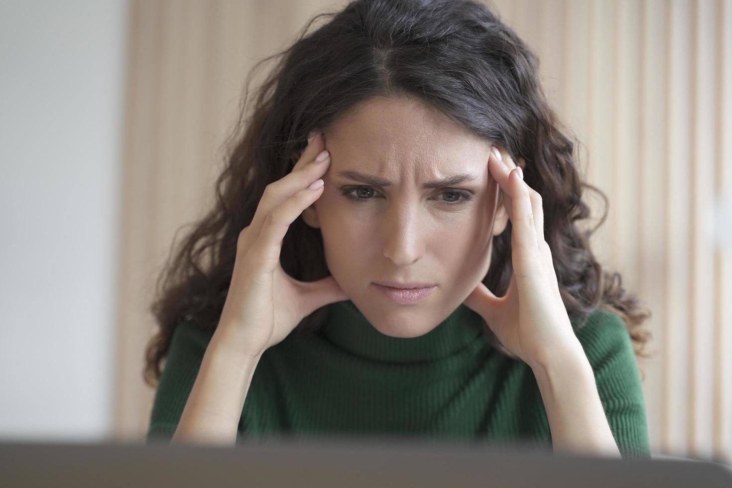
[[[374,361],[419,363],[436,361],[466,348],[481,337],[485,321],[464,304],[435,329],[419,337],[381,334],[351,300],[329,305],[321,334],[338,348]]]

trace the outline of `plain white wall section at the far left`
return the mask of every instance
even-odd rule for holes
[[[126,35],[0,0],[0,441],[111,435]]]

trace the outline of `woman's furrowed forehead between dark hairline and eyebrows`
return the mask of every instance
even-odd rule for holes
[[[375,98],[326,131],[331,170],[431,180],[488,170],[490,143],[417,100]]]

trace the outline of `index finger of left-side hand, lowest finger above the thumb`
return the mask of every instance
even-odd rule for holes
[[[319,180],[318,180],[319,181]],[[259,236],[247,253],[249,269],[255,274],[275,271],[280,263],[282,241],[294,220],[318,200],[324,186],[306,187],[290,195],[283,203],[269,211],[264,218]]]

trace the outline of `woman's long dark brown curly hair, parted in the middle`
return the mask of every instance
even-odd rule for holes
[[[310,32],[317,20],[328,20]],[[275,66],[247,105],[253,75],[266,61]],[[214,207],[184,236],[157,281],[150,310],[159,330],[146,347],[146,383],[160,380],[161,362],[173,330],[183,320],[214,330],[220,319],[236,257],[236,241],[250,225],[267,184],[290,173],[311,130],[326,130],[356,103],[377,96],[406,97],[430,105],[481,138],[496,141],[516,161],[526,162],[525,179],[542,195],[545,240],[572,323],[598,308],[615,312],[627,325],[635,354],[651,333],[642,329],[649,309],[621,284],[618,273],[600,266],[589,237],[605,222],[608,199],[583,183],[575,143],[547,102],[538,61],[493,8],[474,0],[358,0],[343,10],[315,15],[294,43],[262,59],[247,76],[241,113],[225,141],[223,173]],[[589,231],[583,190],[605,200],[605,214]],[[180,230],[180,229],[179,229]],[[176,233],[177,236],[177,233]],[[173,243],[176,239],[173,239]],[[330,274],[321,232],[298,217],[281,254],[283,269],[313,281]],[[512,277],[511,223],[493,241],[482,282],[503,296]],[[295,331],[317,330],[327,316],[321,307]],[[488,326],[487,340],[513,356]],[[641,370],[642,374],[642,370]]]

